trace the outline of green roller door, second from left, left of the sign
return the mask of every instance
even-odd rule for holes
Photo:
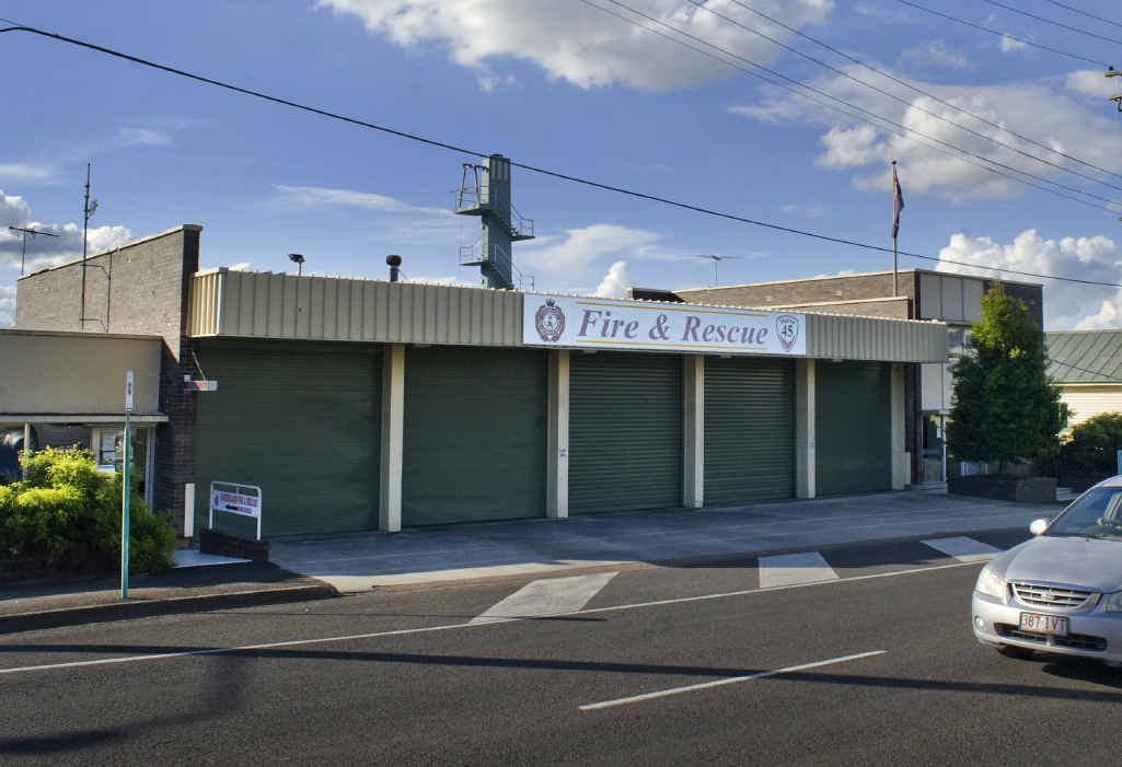
[[[545,352],[405,354],[402,525],[545,515]]]

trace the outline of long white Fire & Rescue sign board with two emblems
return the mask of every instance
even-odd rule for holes
[[[534,346],[804,355],[807,317],[793,312],[526,294],[522,342]]]

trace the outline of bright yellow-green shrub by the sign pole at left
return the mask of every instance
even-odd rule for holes
[[[8,556],[112,569],[121,557],[121,475],[96,471],[85,450],[46,449],[26,455],[22,482],[0,487],[0,546]],[[172,566],[175,530],[129,490],[129,572]]]

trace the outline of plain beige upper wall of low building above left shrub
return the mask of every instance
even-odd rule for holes
[[[125,412],[134,372],[134,413],[159,412],[158,338],[0,330],[0,417]]]

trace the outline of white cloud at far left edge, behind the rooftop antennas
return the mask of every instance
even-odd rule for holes
[[[24,251],[24,234],[12,232],[8,227],[34,229],[56,237],[27,237],[26,269],[34,271],[43,267],[62,264],[82,255],[82,228],[75,223],[42,223],[31,220],[31,209],[16,195],[7,195],[0,190],[0,267],[19,269]],[[89,231],[86,251],[101,252],[123,244],[132,239],[126,227],[95,227]]]

